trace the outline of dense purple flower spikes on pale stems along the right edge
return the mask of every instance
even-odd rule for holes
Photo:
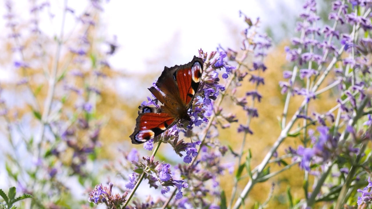
[[[304,120],[301,128],[285,134],[304,133],[302,145],[297,149],[290,148],[288,154],[294,163],[298,162],[302,169],[319,180],[302,205],[311,207],[317,201],[317,195],[321,195],[321,198],[332,195],[322,193],[320,188],[325,176],[336,166],[335,162],[338,162],[339,172],[332,175],[345,175],[345,181],[355,177],[358,181],[360,176],[365,175],[363,169],[350,168],[349,164],[355,164],[355,158],[363,155],[363,145],[360,144],[366,143],[370,135],[368,129],[358,126],[356,121],[363,120],[363,115],[368,115],[365,109],[371,107],[371,96],[367,93],[371,86],[367,63],[372,39],[360,37],[360,34],[369,34],[372,29],[370,21],[366,19],[370,16],[371,2],[333,1],[332,12],[328,15],[333,25],[324,25],[323,28],[317,26],[321,17],[317,15],[316,1],[307,0],[303,8],[305,12],[300,15],[302,22],[298,22],[296,27],[300,37],[292,38],[292,46],[285,48],[287,60],[293,63],[294,68],[283,72],[283,77],[288,81],[280,81],[279,85],[282,94],[287,94],[288,101],[296,95],[304,97],[292,120],[282,124],[282,127],[286,129],[292,127],[296,120]],[[350,30],[350,27],[353,29]],[[323,83],[328,84],[321,87]],[[324,113],[309,113],[312,105],[323,102],[321,99],[324,97],[320,94],[330,89],[335,92],[332,97],[337,102],[336,106]],[[283,112],[285,117],[287,109],[288,106]],[[363,124],[369,124],[368,121]],[[312,130],[314,126],[317,132]],[[343,160],[340,161],[340,158]],[[343,187],[343,190],[347,190],[350,182],[344,183]],[[369,201],[368,188],[358,190],[362,192],[358,205]],[[338,195],[336,208],[345,202],[346,194]]]

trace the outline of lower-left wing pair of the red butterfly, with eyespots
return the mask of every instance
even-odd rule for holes
[[[161,110],[155,107],[140,106],[139,108],[136,128],[130,136],[132,144],[147,142],[162,134],[179,120],[169,113],[160,112]]]

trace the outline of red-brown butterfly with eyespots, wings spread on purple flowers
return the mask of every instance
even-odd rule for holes
[[[194,56],[191,62],[164,67],[155,87],[148,88],[163,105],[159,108],[139,106],[136,127],[129,137],[132,144],[142,144],[162,134],[180,119],[190,121],[187,110],[192,106],[203,74],[202,58]]]

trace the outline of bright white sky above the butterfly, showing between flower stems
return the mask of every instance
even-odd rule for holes
[[[0,14],[4,14],[4,2],[0,6]],[[123,73],[140,73],[142,75],[160,73],[164,66],[171,67],[189,62],[198,49],[204,52],[223,47],[238,49],[241,43],[240,32],[246,28],[243,17],[239,17],[241,10],[252,20],[260,17],[262,30],[270,27],[276,34],[276,39],[283,37],[281,24],[284,22],[293,28],[295,14],[299,11],[303,1],[298,0],[190,0],[190,1],[122,1],[102,0],[104,12],[100,22],[101,36],[113,39],[118,37],[120,46],[110,58],[109,63],[115,70]],[[36,1],[38,4],[44,0]],[[73,8],[75,14],[81,14],[88,1],[68,0],[68,7]],[[50,20],[47,12],[41,13],[40,28],[50,35],[59,35],[61,13],[64,0],[50,0],[51,13],[55,14]],[[14,11],[20,16],[19,22],[28,23],[30,18],[30,1],[15,1]],[[76,20],[71,14],[66,16],[64,31],[68,33],[74,28]],[[0,19],[0,29],[4,27],[4,19]],[[22,34],[24,36],[27,35]],[[235,36],[232,34],[235,33]],[[7,38],[8,33],[0,34],[0,38]],[[279,38],[278,38],[279,37]],[[0,40],[1,40],[0,39]],[[1,56],[1,55],[0,55]],[[12,62],[13,63],[13,62]],[[17,80],[0,67],[0,80]],[[154,78],[156,79],[156,78]],[[148,93],[147,87],[152,82],[140,83],[146,87],[136,93],[126,91],[139,87],[138,80],[124,79],[117,81],[115,86],[122,96],[133,96]],[[138,88],[137,88],[138,89]]]

